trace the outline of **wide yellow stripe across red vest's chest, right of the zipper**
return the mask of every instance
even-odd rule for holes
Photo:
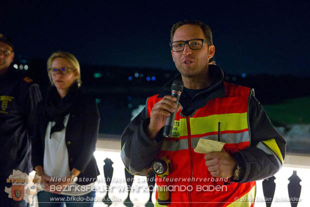
[[[247,112],[214,114],[205,117],[190,118],[190,131],[192,135],[217,131],[218,122],[220,130],[241,130],[247,128]]]

